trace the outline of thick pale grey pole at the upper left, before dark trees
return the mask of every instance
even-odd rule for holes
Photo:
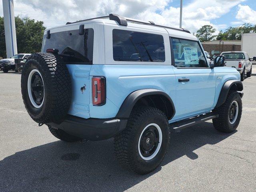
[[[13,0],[3,0],[3,10],[6,56],[7,58],[10,58],[17,54],[17,40]]]

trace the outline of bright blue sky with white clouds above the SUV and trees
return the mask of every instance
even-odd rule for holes
[[[256,24],[256,0],[183,0],[182,12],[182,27],[190,32],[206,24],[216,34],[229,26]],[[14,0],[15,16],[41,20],[47,28],[110,13],[179,27],[180,0]]]

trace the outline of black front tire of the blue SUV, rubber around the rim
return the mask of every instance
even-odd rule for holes
[[[236,118],[236,121],[231,124],[229,120],[229,110],[233,101],[236,101],[238,103],[238,116]],[[230,90],[224,104],[214,109],[213,111],[216,112],[216,114],[219,114],[218,118],[214,118],[212,120],[214,128],[220,132],[233,132],[238,127],[242,116],[242,99],[240,97],[240,94],[234,90]]]

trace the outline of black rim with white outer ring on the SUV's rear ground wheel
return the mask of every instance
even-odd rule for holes
[[[149,157],[156,151],[158,144],[158,130],[155,126],[149,126],[140,138],[140,153],[144,157]]]

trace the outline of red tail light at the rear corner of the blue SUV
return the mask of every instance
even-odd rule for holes
[[[101,106],[106,103],[106,78],[92,77],[92,104]]]

